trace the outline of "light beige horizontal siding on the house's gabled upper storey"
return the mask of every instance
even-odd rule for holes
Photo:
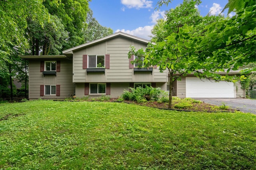
[[[116,37],[96,45],[91,45],[74,51],[73,54],[73,82],[167,82],[167,71],[160,73],[159,69],[153,72],[136,72],[129,68],[128,50],[130,45],[136,49],[146,48],[146,43],[134,41],[124,37]],[[82,69],[83,55],[104,55],[110,54],[110,69],[105,69],[104,73],[86,73]]]

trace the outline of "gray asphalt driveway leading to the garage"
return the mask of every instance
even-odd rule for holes
[[[244,99],[244,98],[234,98],[234,99],[220,99],[220,98],[206,98],[197,99],[203,101],[204,103],[209,103],[212,105],[223,105],[230,106],[233,109],[240,110],[244,113],[253,113],[256,115],[256,100]]]

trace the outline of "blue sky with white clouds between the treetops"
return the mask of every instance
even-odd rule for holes
[[[198,10],[202,16],[211,11],[218,15],[228,0],[201,0]],[[125,32],[133,36],[150,40],[150,31],[156,20],[164,17],[164,12],[175,8],[183,0],[173,0],[168,6],[155,10],[158,0],[92,0],[89,2],[93,16],[100,25],[114,32]],[[226,16],[227,10],[224,11]]]

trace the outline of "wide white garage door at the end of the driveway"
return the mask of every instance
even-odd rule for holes
[[[236,98],[232,82],[214,82],[198,77],[186,77],[186,97],[192,98]]]

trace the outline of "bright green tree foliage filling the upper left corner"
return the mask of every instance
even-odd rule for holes
[[[49,15],[42,1],[0,1],[0,72],[5,73],[8,63],[12,63],[10,55],[13,48],[28,47],[26,18],[31,16],[32,20],[37,19],[39,23],[48,20]]]

